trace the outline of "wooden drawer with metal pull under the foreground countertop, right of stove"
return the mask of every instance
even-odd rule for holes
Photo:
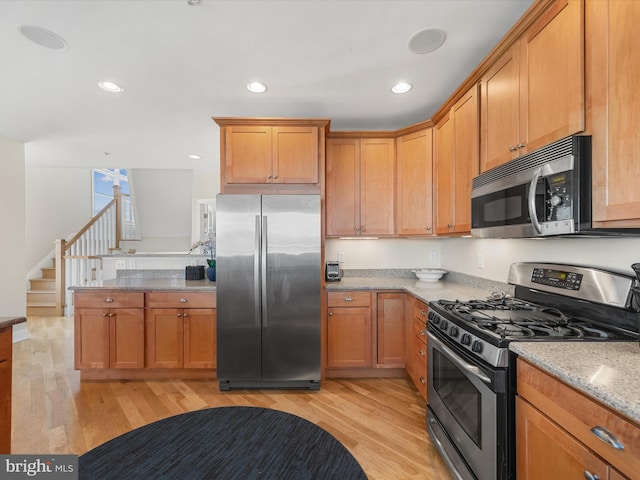
[[[521,359],[517,368],[518,395],[625,475],[640,472],[640,425]],[[600,440],[594,427],[606,429],[624,449]]]

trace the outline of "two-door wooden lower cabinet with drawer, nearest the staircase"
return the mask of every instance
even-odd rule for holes
[[[75,294],[75,368],[144,368],[144,294]],[[100,308],[102,306],[102,308]]]

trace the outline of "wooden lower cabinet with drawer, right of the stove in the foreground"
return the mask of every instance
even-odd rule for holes
[[[518,480],[638,478],[640,425],[562,381],[518,360]],[[605,429],[616,449],[593,433]]]

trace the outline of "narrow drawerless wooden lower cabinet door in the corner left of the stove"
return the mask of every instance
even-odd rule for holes
[[[405,365],[405,294],[378,294],[378,364]]]

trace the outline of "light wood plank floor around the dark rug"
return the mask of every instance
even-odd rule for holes
[[[348,448],[370,480],[450,479],[425,429],[425,405],[408,379],[323,382],[318,392],[234,391],[216,382],[83,381],[73,369],[73,319],[29,317],[14,344],[13,453],[75,453],[141,425],[226,405],[286,411]]]

